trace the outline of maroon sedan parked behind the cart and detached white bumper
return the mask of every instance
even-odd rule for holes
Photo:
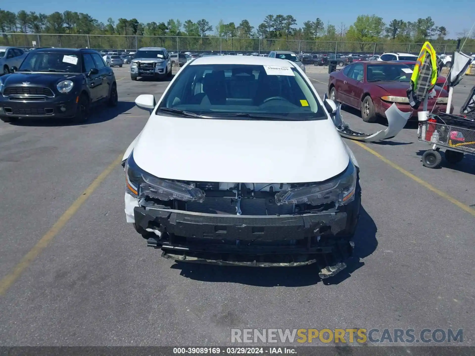
[[[378,115],[385,117],[385,112],[393,103],[399,110],[412,112],[411,118],[417,118],[407,97],[407,89],[412,69],[401,63],[391,62],[358,62],[333,72],[328,79],[328,93],[332,100],[361,110],[365,122],[375,122]],[[436,95],[428,100],[428,110],[445,112],[448,93],[436,86]],[[439,95],[440,94],[440,95]],[[453,112],[452,106],[450,112]]]

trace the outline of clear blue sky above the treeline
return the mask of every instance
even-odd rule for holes
[[[139,3],[140,5],[138,5]],[[451,5],[447,6],[448,3]],[[427,10],[421,8],[427,8]],[[115,21],[121,17],[136,18],[143,23],[152,21],[166,23],[168,19],[180,19],[182,22],[187,19],[197,21],[204,18],[210,22],[213,28],[219,19],[223,19],[225,23],[233,21],[236,25],[242,19],[247,19],[252,26],[257,27],[267,14],[293,15],[298,26],[302,26],[306,20],[314,20],[319,17],[325,25],[330,21],[337,28],[341,22],[348,27],[360,14],[376,14],[387,23],[391,19],[414,21],[419,17],[431,16],[436,26],[447,28],[448,37],[456,37],[456,32],[460,32],[464,28],[470,29],[475,20],[473,1],[470,0],[141,0],[139,2],[130,0],[61,2],[57,0],[22,0],[10,1],[8,6],[2,6],[2,9],[14,12],[25,9],[37,13],[71,10],[88,13],[104,23],[109,17]]]

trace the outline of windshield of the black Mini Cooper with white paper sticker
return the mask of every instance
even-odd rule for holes
[[[52,52],[30,52],[18,71],[82,73],[76,54]]]

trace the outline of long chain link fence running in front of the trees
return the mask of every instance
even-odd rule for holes
[[[135,51],[141,47],[165,47],[173,52],[259,53],[286,50],[295,53],[381,54],[407,52],[418,54],[422,43],[304,41],[235,37],[174,37],[0,33],[1,46],[93,48],[108,51]],[[432,44],[438,54],[452,53],[456,44]],[[475,44],[466,44],[465,53],[475,52]]]

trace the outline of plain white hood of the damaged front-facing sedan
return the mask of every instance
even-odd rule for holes
[[[220,120],[152,114],[133,149],[159,178],[241,183],[317,182],[349,156],[331,120]]]

